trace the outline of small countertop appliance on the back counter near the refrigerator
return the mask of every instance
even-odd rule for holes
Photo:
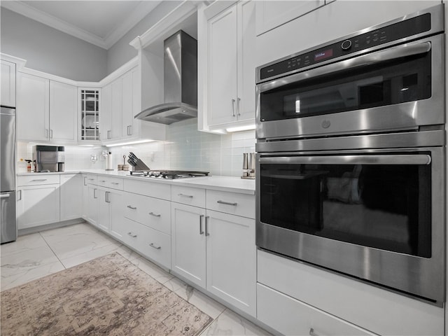
[[[64,146],[33,146],[34,172],[64,172]]]

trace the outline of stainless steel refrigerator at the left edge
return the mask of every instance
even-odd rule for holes
[[[15,109],[0,111],[0,203],[1,244],[17,239],[15,215]]]

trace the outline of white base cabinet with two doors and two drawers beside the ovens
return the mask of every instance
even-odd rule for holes
[[[209,192],[220,211],[190,205],[203,204],[203,194],[208,208]],[[172,270],[255,316],[255,211],[251,218],[229,214],[254,209],[255,198],[247,196],[242,201],[237,193],[172,186]]]

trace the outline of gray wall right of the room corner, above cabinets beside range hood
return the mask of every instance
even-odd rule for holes
[[[145,31],[153,27],[155,23],[165,17],[174,8],[179,6],[182,1],[163,1],[159,6],[146,15],[130,31],[117,41],[107,52],[107,72],[108,74],[118,69],[127,61],[137,56],[137,50],[129,43],[137,36],[141,36]]]

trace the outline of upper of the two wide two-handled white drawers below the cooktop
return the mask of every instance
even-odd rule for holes
[[[171,202],[125,193],[125,217],[171,235]]]

